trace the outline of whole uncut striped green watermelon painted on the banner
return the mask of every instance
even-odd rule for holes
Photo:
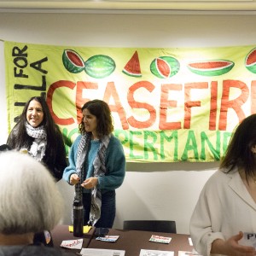
[[[84,71],[90,77],[103,79],[113,73],[115,62],[108,55],[93,55],[84,62]]]

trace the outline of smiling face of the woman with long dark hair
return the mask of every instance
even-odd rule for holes
[[[43,122],[44,111],[42,105],[32,100],[26,110],[26,120],[32,127],[38,127]]]

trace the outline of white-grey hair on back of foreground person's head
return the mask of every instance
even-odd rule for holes
[[[0,154],[0,233],[52,230],[60,223],[63,201],[49,171],[28,154]]]

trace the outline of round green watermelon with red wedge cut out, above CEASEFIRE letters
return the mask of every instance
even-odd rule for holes
[[[160,79],[167,79],[179,71],[179,62],[171,56],[155,58],[150,64],[150,71]]]

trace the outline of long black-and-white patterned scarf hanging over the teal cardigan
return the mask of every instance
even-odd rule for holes
[[[82,135],[79,142],[78,154],[77,154],[77,174],[80,177],[80,183],[75,185],[75,200],[82,201],[83,191],[81,183],[84,181],[84,161],[86,159],[86,154],[90,145],[91,134],[86,133]],[[110,135],[104,136],[101,139],[100,148],[96,154],[96,158],[93,161],[94,167],[94,177],[104,176],[106,173],[105,157],[106,149],[108,148],[108,143],[110,140]],[[95,186],[91,189],[91,204],[90,204],[90,224],[94,226],[98,219],[101,217],[102,208],[102,192],[101,189],[97,189]]]

